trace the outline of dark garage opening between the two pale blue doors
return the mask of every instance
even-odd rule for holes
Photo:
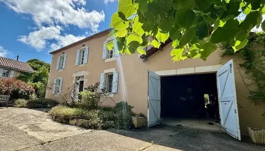
[[[216,73],[161,77],[161,117],[168,125],[219,130]]]

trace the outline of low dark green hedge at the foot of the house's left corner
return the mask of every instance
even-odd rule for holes
[[[58,104],[59,103],[57,101],[52,99],[39,98],[39,99],[29,100],[27,106],[28,108],[49,108],[51,106],[55,106]]]

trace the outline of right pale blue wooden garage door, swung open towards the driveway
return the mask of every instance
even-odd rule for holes
[[[233,60],[217,71],[217,83],[222,129],[241,140]]]

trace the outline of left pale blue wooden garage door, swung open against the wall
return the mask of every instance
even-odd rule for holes
[[[148,112],[147,126],[160,123],[161,99],[160,99],[160,76],[148,70]]]

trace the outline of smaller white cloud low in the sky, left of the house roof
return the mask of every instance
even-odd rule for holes
[[[29,33],[28,36],[19,36],[18,41],[23,42],[41,51],[46,46],[46,40],[57,39],[61,32],[60,26],[41,27]]]

